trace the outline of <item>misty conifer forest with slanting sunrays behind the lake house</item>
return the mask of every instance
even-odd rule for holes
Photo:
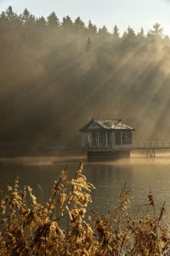
[[[55,13],[0,15],[0,140],[77,144],[91,117],[136,128],[138,140],[168,139],[170,40],[156,23],[119,33]]]

